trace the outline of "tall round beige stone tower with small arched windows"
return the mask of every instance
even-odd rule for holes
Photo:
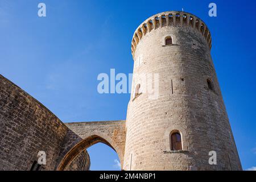
[[[206,24],[189,13],[156,14],[137,28],[123,169],[242,169],[211,47]],[[151,74],[155,98],[145,89]]]

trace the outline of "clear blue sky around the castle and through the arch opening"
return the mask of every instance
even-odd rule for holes
[[[38,3],[47,16],[38,17]],[[208,16],[210,2],[217,17]],[[243,169],[256,167],[255,1],[0,0],[0,73],[63,122],[126,119],[129,94],[98,94],[97,76],[132,73],[130,43],[143,20],[181,10],[207,23],[212,56]],[[91,169],[118,169],[104,144]]]

